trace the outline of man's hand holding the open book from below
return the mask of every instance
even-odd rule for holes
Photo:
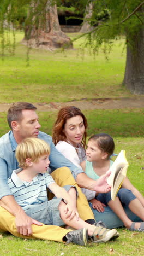
[[[93,184],[93,190],[97,191],[98,193],[107,193],[111,190],[111,186],[107,183],[107,177],[109,177],[111,171],[106,172],[106,174],[101,175],[95,184]]]

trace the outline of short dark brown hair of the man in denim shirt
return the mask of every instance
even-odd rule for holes
[[[8,120],[10,129],[12,129],[11,127],[12,121],[22,120],[22,110],[24,109],[36,110],[37,108],[29,102],[16,102],[10,106],[7,114],[7,120]]]

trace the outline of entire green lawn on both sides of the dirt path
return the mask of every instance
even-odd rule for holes
[[[75,35],[71,35],[74,37]],[[66,102],[80,98],[133,97],[121,82],[124,75],[124,39],[117,41],[110,60],[100,53],[95,58],[84,59],[77,49],[82,39],[74,43],[74,50],[51,53],[31,50],[30,66],[26,66],[26,47],[19,44],[23,33],[16,36],[16,52],[12,56],[5,49],[4,61],[0,60],[0,103],[15,101]],[[126,150],[129,161],[128,177],[137,189],[143,190],[143,109],[85,110],[88,119],[88,136],[106,132],[115,139],[115,153]],[[39,112],[41,131],[51,135],[57,110]],[[6,113],[0,113],[0,136],[9,131]],[[23,240],[0,232],[0,255],[143,255],[143,234],[118,229],[118,240],[105,244],[81,247],[40,240]]]

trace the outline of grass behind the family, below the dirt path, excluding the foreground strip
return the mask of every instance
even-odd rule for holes
[[[85,110],[83,113],[88,120],[88,136],[94,133],[109,133],[115,139],[115,153],[126,150],[130,163],[128,177],[131,182],[144,194],[143,190],[143,109],[119,110]],[[41,131],[52,134],[52,126],[57,117],[57,110],[52,112],[38,112]],[[9,131],[6,113],[0,113],[0,135]]]

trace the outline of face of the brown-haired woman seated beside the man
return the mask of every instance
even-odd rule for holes
[[[67,137],[67,141],[69,141],[74,147],[77,147],[77,144],[81,143],[85,132],[85,126],[81,115],[76,115],[76,117],[67,119],[63,132]]]

